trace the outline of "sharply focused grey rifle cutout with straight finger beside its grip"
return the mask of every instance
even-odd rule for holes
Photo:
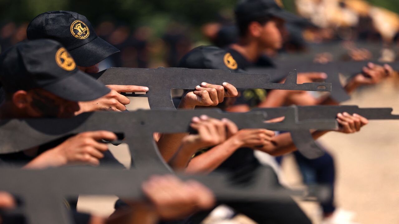
[[[216,69],[130,69],[110,68],[92,75],[109,85],[147,86],[146,94],[126,94],[126,96],[148,97],[151,109],[174,108],[171,89],[194,90],[202,82],[219,84],[227,82],[236,88],[263,88],[280,90],[331,91],[331,83],[296,83],[296,72],[288,71],[285,83],[271,83],[269,75],[231,73]]]

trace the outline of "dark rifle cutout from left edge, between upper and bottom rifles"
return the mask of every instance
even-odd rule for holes
[[[271,112],[274,110],[272,109]],[[280,116],[286,116],[279,123],[265,123],[264,112],[225,113],[221,110],[138,110],[134,112],[92,112],[68,119],[33,118],[0,121],[0,153],[14,153],[37,147],[60,138],[87,131],[106,130],[124,136],[129,145],[134,167],[155,163],[168,168],[158,152],[153,133],[189,132],[194,116],[205,114],[212,118],[227,118],[235,122],[240,129],[266,128],[269,130],[333,130],[336,120],[297,121],[296,108],[282,110]],[[298,132],[298,138],[301,138]],[[305,136],[306,138],[306,136]],[[303,141],[313,141],[312,138]],[[304,155],[308,155],[306,150]]]

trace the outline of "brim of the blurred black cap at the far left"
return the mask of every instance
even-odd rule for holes
[[[65,100],[91,101],[108,94],[111,90],[82,71],[42,87]]]

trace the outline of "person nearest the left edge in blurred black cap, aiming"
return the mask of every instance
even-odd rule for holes
[[[79,110],[78,102],[95,100],[110,92],[109,88],[79,71],[68,51],[49,39],[22,42],[4,51],[0,71],[5,91],[5,100],[0,105],[1,119],[67,118]],[[116,136],[105,131],[86,132],[51,150],[47,150],[47,145],[47,148],[1,155],[1,159],[30,162],[28,167],[70,163],[98,165],[107,150],[107,145],[97,142],[101,139],[115,140]],[[37,155],[43,160],[34,159]]]

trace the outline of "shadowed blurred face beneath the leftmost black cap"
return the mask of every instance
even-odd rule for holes
[[[32,118],[70,118],[79,108],[77,102],[65,100],[46,90],[19,90],[13,95],[14,105]]]

